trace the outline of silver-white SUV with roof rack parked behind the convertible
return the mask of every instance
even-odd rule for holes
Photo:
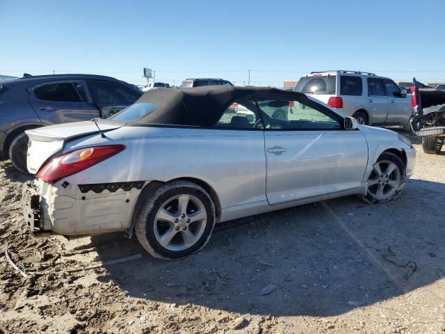
[[[296,92],[340,109],[365,125],[403,125],[409,129],[411,95],[389,78],[359,71],[311,72],[301,77]]]

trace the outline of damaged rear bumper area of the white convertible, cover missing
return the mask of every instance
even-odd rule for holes
[[[36,236],[85,236],[131,228],[133,207],[142,185],[55,184],[35,179],[22,190],[24,220]],[[136,187],[137,186],[137,187]]]

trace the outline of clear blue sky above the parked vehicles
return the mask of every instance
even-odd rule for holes
[[[445,81],[445,1],[0,0],[0,74],[280,86],[312,70]],[[157,80],[156,80],[157,81]]]

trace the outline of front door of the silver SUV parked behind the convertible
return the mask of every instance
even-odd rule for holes
[[[404,123],[412,114],[411,101],[401,95],[401,88],[391,79],[382,79],[388,97],[387,123]]]

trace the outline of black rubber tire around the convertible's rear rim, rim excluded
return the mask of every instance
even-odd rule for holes
[[[184,250],[170,250],[162,246],[156,239],[156,234],[154,232],[155,218],[165,202],[168,202],[170,198],[184,194],[194,196],[202,202],[207,213],[207,223],[204,232],[195,244]],[[201,186],[184,180],[172,181],[162,184],[155,191],[147,194],[146,198],[143,198],[142,200],[143,204],[138,210],[135,221],[135,232],[140,244],[153,257],[164,260],[178,259],[179,257],[196,253],[207,244],[207,241],[209,241],[211,232],[216,223],[215,205],[207,191],[202,189]]]

